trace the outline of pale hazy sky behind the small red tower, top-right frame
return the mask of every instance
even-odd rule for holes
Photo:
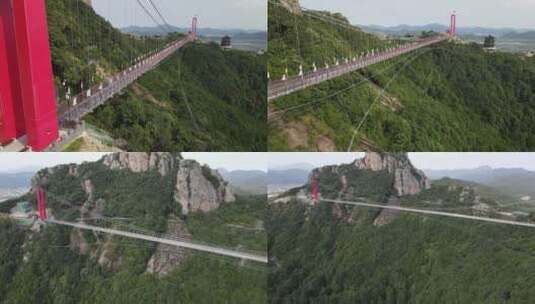
[[[341,12],[353,24],[449,24],[457,26],[535,28],[535,0],[301,0],[310,9]]]

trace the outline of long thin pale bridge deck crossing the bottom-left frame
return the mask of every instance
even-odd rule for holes
[[[268,262],[268,258],[266,256],[260,256],[260,255],[255,255],[255,254],[240,252],[240,251],[234,251],[234,250],[229,250],[225,248],[209,246],[209,245],[204,245],[204,244],[196,244],[196,243],[189,242],[186,240],[178,240],[178,239],[171,240],[167,238],[161,238],[161,237],[146,235],[142,233],[120,231],[120,230],[115,230],[115,229],[102,228],[102,227],[97,227],[97,226],[81,224],[81,223],[71,223],[71,222],[65,222],[65,221],[53,220],[53,219],[48,219],[46,220],[46,222],[63,225],[63,226],[70,226],[70,227],[74,227],[78,229],[103,232],[103,233],[124,236],[128,238],[133,238],[133,239],[140,239],[140,240],[145,240],[145,241],[150,241],[150,242],[155,242],[155,243],[160,243],[160,244],[166,244],[166,245],[171,245],[171,246],[176,246],[176,247],[209,252],[213,254],[224,255],[224,256],[229,256],[229,257],[234,257],[234,258],[239,258],[239,259],[244,259],[244,260],[249,260],[249,261],[255,261],[255,262],[260,262],[260,263]]]

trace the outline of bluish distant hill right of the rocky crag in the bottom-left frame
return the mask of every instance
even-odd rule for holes
[[[265,194],[267,192],[267,174],[264,171],[227,171],[225,169],[218,169],[217,171],[238,191],[241,190],[252,194]]]

